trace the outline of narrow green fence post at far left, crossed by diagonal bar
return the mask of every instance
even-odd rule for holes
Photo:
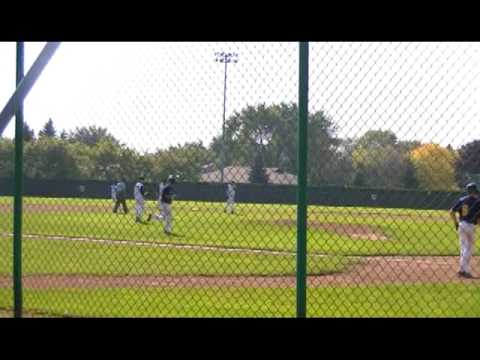
[[[16,85],[24,75],[24,43],[17,42]],[[21,101],[21,100],[20,100]],[[13,205],[13,306],[22,317],[22,196],[23,196],[23,103],[15,113],[15,194]]]

